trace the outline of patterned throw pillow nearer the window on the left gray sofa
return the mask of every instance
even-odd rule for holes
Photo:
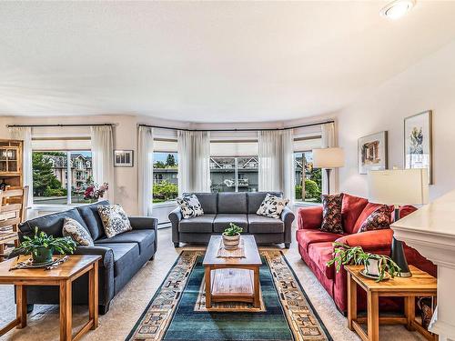
[[[129,223],[123,207],[120,205],[100,205],[96,206],[101,217],[107,238],[131,231],[133,227]]]

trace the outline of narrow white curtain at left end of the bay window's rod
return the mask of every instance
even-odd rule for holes
[[[139,126],[137,167],[139,214],[151,216],[153,206],[153,128],[148,126]]]

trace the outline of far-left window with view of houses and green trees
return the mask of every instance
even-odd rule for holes
[[[34,204],[89,203],[84,192],[93,183],[91,161],[90,151],[33,151]]]

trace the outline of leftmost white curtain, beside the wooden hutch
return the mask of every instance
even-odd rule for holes
[[[33,205],[33,169],[32,169],[32,128],[30,126],[14,126],[9,128],[13,140],[24,141],[23,145],[23,182],[28,186],[27,205]]]

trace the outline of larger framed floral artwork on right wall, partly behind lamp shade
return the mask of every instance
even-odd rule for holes
[[[431,110],[404,119],[404,167],[427,168],[433,184],[433,113]]]

